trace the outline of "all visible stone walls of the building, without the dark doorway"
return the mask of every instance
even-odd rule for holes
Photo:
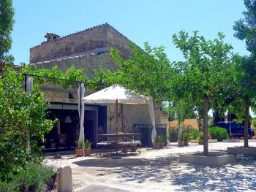
[[[83,74],[87,77],[94,77],[94,70],[100,66],[115,71],[116,64],[110,58],[110,49],[115,47],[121,53],[124,59],[129,58],[131,52],[129,40],[124,35],[120,34],[115,28],[105,23],[100,26],[86,29],[75,34],[69,34],[65,37],[59,37],[56,34],[47,34],[46,42],[41,45],[31,47],[30,49],[30,64],[39,68],[51,69],[53,66],[58,66],[62,72],[66,72],[71,66],[75,69],[83,69]],[[44,86],[41,88],[45,93],[45,99],[50,102],[57,103],[77,103],[77,90],[68,88],[66,90]],[[72,93],[75,100],[71,102],[68,94]],[[86,95],[90,92],[86,91]],[[108,132],[112,132],[115,127],[115,107],[107,105],[107,126]],[[147,105],[124,105],[125,123],[129,130],[132,131],[134,124],[151,124],[148,114]],[[166,115],[155,111],[156,123],[166,123]],[[121,121],[119,120],[119,123]],[[121,125],[119,125],[120,127]]]

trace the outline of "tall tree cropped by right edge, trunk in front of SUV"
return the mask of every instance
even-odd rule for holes
[[[236,31],[234,36],[245,40],[246,50],[251,53],[243,58],[238,57],[236,68],[240,101],[244,105],[244,147],[248,147],[249,107],[255,104],[256,93],[256,1],[244,0],[244,5],[246,7],[246,11],[243,12],[244,18],[236,21],[233,29]]]

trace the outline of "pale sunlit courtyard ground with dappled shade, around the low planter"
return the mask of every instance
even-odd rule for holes
[[[227,147],[243,143],[209,144],[211,151],[226,153]],[[249,143],[256,146],[256,142]],[[233,164],[201,166],[179,161],[181,153],[196,153],[203,146],[169,144],[162,150],[143,148],[140,155],[122,159],[63,155],[47,164],[72,167],[75,191],[256,191],[256,157],[237,155]]]

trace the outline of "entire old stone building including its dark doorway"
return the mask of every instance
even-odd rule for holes
[[[117,69],[116,64],[113,64],[110,58],[112,47],[117,48],[124,59],[129,58],[129,53],[131,53],[127,37],[108,23],[64,37],[47,33],[45,38],[45,42],[31,47],[31,66],[47,69],[58,66],[62,72],[74,66],[75,69],[83,69],[83,74],[89,78],[94,77],[94,70],[99,69],[100,66],[111,71]],[[45,99],[51,104],[50,117],[59,119],[56,127],[47,136],[46,147],[74,147],[79,131],[77,90],[50,85],[45,85],[41,89],[45,93]],[[90,93],[86,91],[86,95]],[[133,131],[135,124],[151,124],[146,105],[123,105],[120,109],[123,114],[118,125],[120,131]],[[96,143],[99,128],[104,133],[113,132],[114,106],[86,105],[85,110],[86,139],[91,139]],[[155,116],[157,124],[167,123],[167,115],[159,108],[156,109]]]

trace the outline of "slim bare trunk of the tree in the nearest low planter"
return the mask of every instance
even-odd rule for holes
[[[203,155],[208,156],[208,108],[209,96],[203,97]]]

